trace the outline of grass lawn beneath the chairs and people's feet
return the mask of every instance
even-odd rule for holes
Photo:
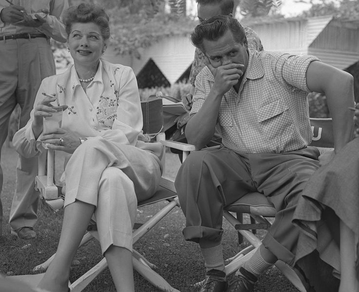
[[[176,155],[167,156],[166,168],[168,175],[174,176],[180,163]],[[63,212],[54,213],[47,205],[40,202],[38,210],[38,237],[33,240],[14,240],[10,237],[9,220],[11,201],[15,191],[15,168],[17,154],[13,148],[3,146],[1,166],[4,172],[1,200],[4,211],[4,235],[0,238],[0,273],[2,274],[32,274],[32,268],[53,255],[61,230]],[[154,214],[155,210],[166,204],[161,202],[146,206],[139,210],[137,221],[144,222]],[[146,256],[157,266],[161,274],[172,287],[182,291],[199,291],[192,285],[204,278],[204,262],[197,244],[187,242],[182,237],[185,218],[178,208],[172,210],[167,217],[160,221],[145,237],[134,245],[134,248]],[[225,257],[233,256],[247,243],[238,245],[236,231],[224,222],[223,237]],[[262,233],[263,236],[263,233]],[[30,244],[30,245],[28,245]],[[71,267],[71,280],[84,274],[102,258],[99,244],[95,240],[82,247],[76,254]],[[138,292],[158,292],[139,274],[134,274],[135,290]],[[108,269],[98,276],[84,291],[113,292],[113,281]],[[256,283],[255,292],[296,292],[297,290],[276,269],[272,268],[262,275]]]

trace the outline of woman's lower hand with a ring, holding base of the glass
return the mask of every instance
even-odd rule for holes
[[[43,133],[39,140],[45,143],[48,149],[61,150],[71,154],[81,145],[76,134],[62,128],[57,128],[51,133]]]

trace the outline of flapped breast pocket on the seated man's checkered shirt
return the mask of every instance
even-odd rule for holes
[[[268,140],[290,134],[294,127],[284,99],[277,99],[257,110],[257,121]]]

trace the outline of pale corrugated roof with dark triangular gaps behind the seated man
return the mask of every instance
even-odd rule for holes
[[[335,48],[327,50],[327,45],[321,45],[323,43],[322,38],[328,38],[327,33],[323,31],[328,30],[329,25],[347,29],[357,28],[359,35],[359,19],[321,16],[315,18],[265,19],[263,21],[246,21],[244,24],[257,32],[266,51],[295,55],[316,55],[323,62],[339,69],[345,69],[359,60],[359,50],[347,51],[349,47],[344,46],[344,43],[341,45],[341,50],[338,48],[337,50]],[[343,38],[344,33],[342,35]],[[331,38],[326,41],[333,42],[335,40]],[[340,42],[345,41],[345,39],[340,39]],[[347,41],[353,40],[348,39]],[[313,45],[314,42],[316,45]],[[319,45],[321,48],[318,48]],[[140,50],[141,59],[130,57],[130,66],[137,74],[151,57],[169,82],[173,84],[192,63],[194,50],[189,37],[168,37],[153,44],[150,48]],[[130,63],[129,59],[126,61]]]

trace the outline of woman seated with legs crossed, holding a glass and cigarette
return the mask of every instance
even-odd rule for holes
[[[117,291],[134,291],[132,226],[137,200],[150,198],[159,184],[163,147],[143,142],[132,69],[100,59],[110,37],[105,11],[82,3],[68,9],[64,23],[74,65],[42,81],[31,119],[13,140],[24,156],[38,155],[43,145],[72,154],[65,166],[57,253],[39,288],[68,291],[71,262],[93,218]],[[57,102],[67,106],[62,127],[44,132],[43,117],[52,115]]]

